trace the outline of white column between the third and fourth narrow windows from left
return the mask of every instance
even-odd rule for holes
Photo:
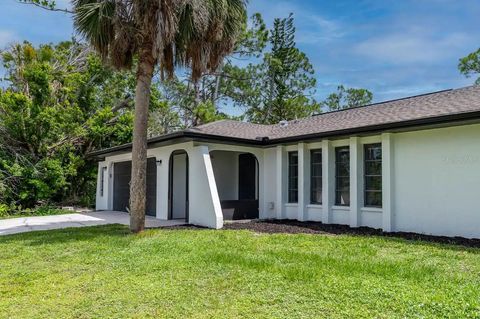
[[[358,227],[360,223],[361,153],[358,137],[350,137],[350,227]]]

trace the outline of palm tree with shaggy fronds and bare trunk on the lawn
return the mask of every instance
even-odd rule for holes
[[[73,0],[75,29],[105,60],[131,68],[137,57],[130,186],[130,229],[145,225],[147,120],[154,70],[171,78],[189,67],[193,81],[215,71],[246,24],[247,0]]]

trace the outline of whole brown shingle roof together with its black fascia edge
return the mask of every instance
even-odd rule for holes
[[[480,120],[480,85],[323,113],[290,121],[286,126],[218,121],[155,137],[148,143],[153,147],[173,139],[199,138],[252,145],[274,145],[285,141],[472,119]],[[108,154],[130,150],[131,143],[92,152],[89,156],[102,158]]]

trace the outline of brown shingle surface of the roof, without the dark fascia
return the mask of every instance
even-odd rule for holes
[[[276,140],[479,111],[480,86],[470,86],[323,113],[289,121],[286,126],[223,120],[187,131],[250,140],[263,137]]]

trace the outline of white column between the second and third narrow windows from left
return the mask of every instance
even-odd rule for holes
[[[335,151],[329,140],[322,141],[322,168],[322,222],[329,224],[335,201]]]

